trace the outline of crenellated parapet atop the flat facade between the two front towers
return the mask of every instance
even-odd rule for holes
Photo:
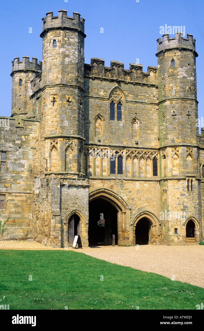
[[[145,84],[158,84],[157,67],[147,67],[143,72],[141,64],[130,63],[130,69],[124,69],[124,63],[112,60],[110,67],[104,66],[103,59],[91,58],[91,64],[84,64],[85,76],[102,77],[107,79],[124,80],[126,82],[141,82]]]

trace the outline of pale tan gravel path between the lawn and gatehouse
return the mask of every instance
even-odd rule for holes
[[[38,242],[0,241],[0,249],[22,250],[64,250],[63,248],[46,247]],[[154,272],[170,279],[204,288],[204,246],[153,246],[144,245],[136,249],[131,247],[102,246],[96,248],[83,247],[72,249],[94,258]]]

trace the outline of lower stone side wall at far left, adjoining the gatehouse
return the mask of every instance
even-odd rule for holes
[[[15,125],[15,119],[7,118],[8,126],[0,128],[0,150],[6,152],[6,169],[0,171],[0,194],[5,197],[0,217],[10,217],[3,239],[32,238],[32,167],[39,123],[22,122]]]

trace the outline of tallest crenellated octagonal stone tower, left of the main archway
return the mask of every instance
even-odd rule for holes
[[[83,172],[84,19],[59,10],[42,19],[41,143],[44,171]],[[45,145],[44,145],[45,144]]]

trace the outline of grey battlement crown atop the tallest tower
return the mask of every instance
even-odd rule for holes
[[[80,14],[73,12],[73,17],[67,16],[67,10],[61,9],[58,11],[58,16],[53,16],[53,12],[48,12],[46,17],[42,19],[42,33],[40,37],[43,37],[47,29],[54,28],[72,28],[80,30],[84,33],[84,19],[80,18]]]

